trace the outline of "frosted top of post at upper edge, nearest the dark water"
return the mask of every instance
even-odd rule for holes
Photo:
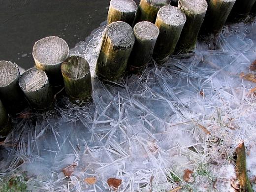
[[[135,12],[137,5],[133,0],[111,0],[110,6],[120,12]]]

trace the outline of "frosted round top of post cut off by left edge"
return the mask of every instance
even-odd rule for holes
[[[16,64],[0,61],[0,87],[8,86],[17,76],[19,76],[19,69]]]

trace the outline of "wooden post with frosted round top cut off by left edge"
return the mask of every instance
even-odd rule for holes
[[[24,105],[24,95],[19,87],[20,72],[16,64],[0,61],[0,99],[5,109],[20,112]]]

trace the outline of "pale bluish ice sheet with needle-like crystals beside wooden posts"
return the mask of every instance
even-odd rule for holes
[[[256,142],[256,84],[240,78],[256,60],[254,26],[228,25],[217,50],[198,42],[162,66],[152,61],[141,76],[102,83],[94,67],[103,24],[70,50],[90,63],[94,103],[63,98],[52,112],[24,111],[1,143],[0,175],[24,174],[32,191],[114,191],[109,178],[122,179],[120,192],[228,191],[236,145]],[[255,147],[250,153],[248,169]],[[67,177],[62,170],[70,165]],[[182,181],[185,169],[194,171],[191,184]]]

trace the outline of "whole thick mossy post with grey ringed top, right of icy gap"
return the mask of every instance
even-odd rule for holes
[[[127,23],[117,21],[108,25],[103,32],[96,75],[108,80],[117,80],[122,77],[126,71],[134,41],[133,30]]]

